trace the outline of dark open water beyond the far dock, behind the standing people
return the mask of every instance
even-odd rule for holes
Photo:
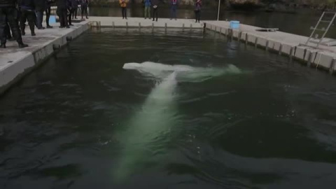
[[[169,8],[161,8],[159,12],[160,18],[169,18]],[[120,8],[90,8],[90,15],[93,16],[113,16],[120,17]],[[144,10],[139,7],[129,8],[128,15],[131,17],[143,17]],[[178,18],[195,18],[193,8],[185,9],[181,8],[177,12]],[[298,34],[303,36],[309,36],[311,34],[310,27],[315,26],[316,22],[321,16],[321,11],[299,9],[290,10],[289,13],[266,13],[262,11],[232,11],[221,10],[220,20],[239,20],[246,25],[253,25],[266,28],[279,28],[280,31],[285,31],[291,34]],[[331,20],[330,15],[323,18],[324,20]],[[202,10],[202,20],[217,20],[216,8],[205,8]],[[327,27],[327,25],[321,25]],[[319,36],[322,36],[321,32],[318,32]],[[327,34],[327,37],[336,38],[336,26],[332,25]]]

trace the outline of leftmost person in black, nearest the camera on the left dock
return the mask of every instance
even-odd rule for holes
[[[18,9],[15,8],[15,1],[0,0],[0,48],[6,48],[7,38],[4,34],[7,22],[12,30],[13,36],[18,41],[20,48],[28,45],[22,42],[21,31],[18,25]]]

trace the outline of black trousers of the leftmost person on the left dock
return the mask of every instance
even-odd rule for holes
[[[14,7],[0,7],[0,41],[1,43],[6,43],[5,28],[7,22],[12,30],[13,36],[18,41],[22,43],[21,31],[18,24],[18,10]]]

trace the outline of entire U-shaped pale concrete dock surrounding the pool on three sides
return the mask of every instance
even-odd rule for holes
[[[300,44],[307,41],[306,36],[288,34],[281,31],[257,31],[259,27],[240,25],[239,29],[230,29],[230,23],[225,21],[169,20],[159,18],[158,22],[144,18],[111,18],[90,17],[88,20],[75,23],[70,29],[59,29],[56,23],[53,29],[37,30],[36,36],[30,36],[28,27],[23,40],[29,44],[28,48],[19,49],[15,41],[8,41],[6,49],[0,49],[0,94],[17,80],[41,64],[58,48],[66,45],[71,38],[76,38],[90,27],[123,27],[123,28],[181,28],[202,30],[204,26],[210,31],[221,33],[230,38],[255,47],[272,50],[290,59],[307,62],[308,66],[316,66],[334,73],[336,66],[336,47],[320,45],[320,48],[309,48]]]

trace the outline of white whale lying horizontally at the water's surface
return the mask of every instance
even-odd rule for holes
[[[167,65],[155,62],[143,63],[126,63],[123,69],[134,69],[141,73],[155,76],[157,78],[165,78],[172,71],[176,72],[179,81],[200,82],[207,80],[214,76],[221,76],[224,74],[239,74],[241,70],[237,66],[228,64],[228,66],[221,68],[214,67],[193,67],[187,65]]]

